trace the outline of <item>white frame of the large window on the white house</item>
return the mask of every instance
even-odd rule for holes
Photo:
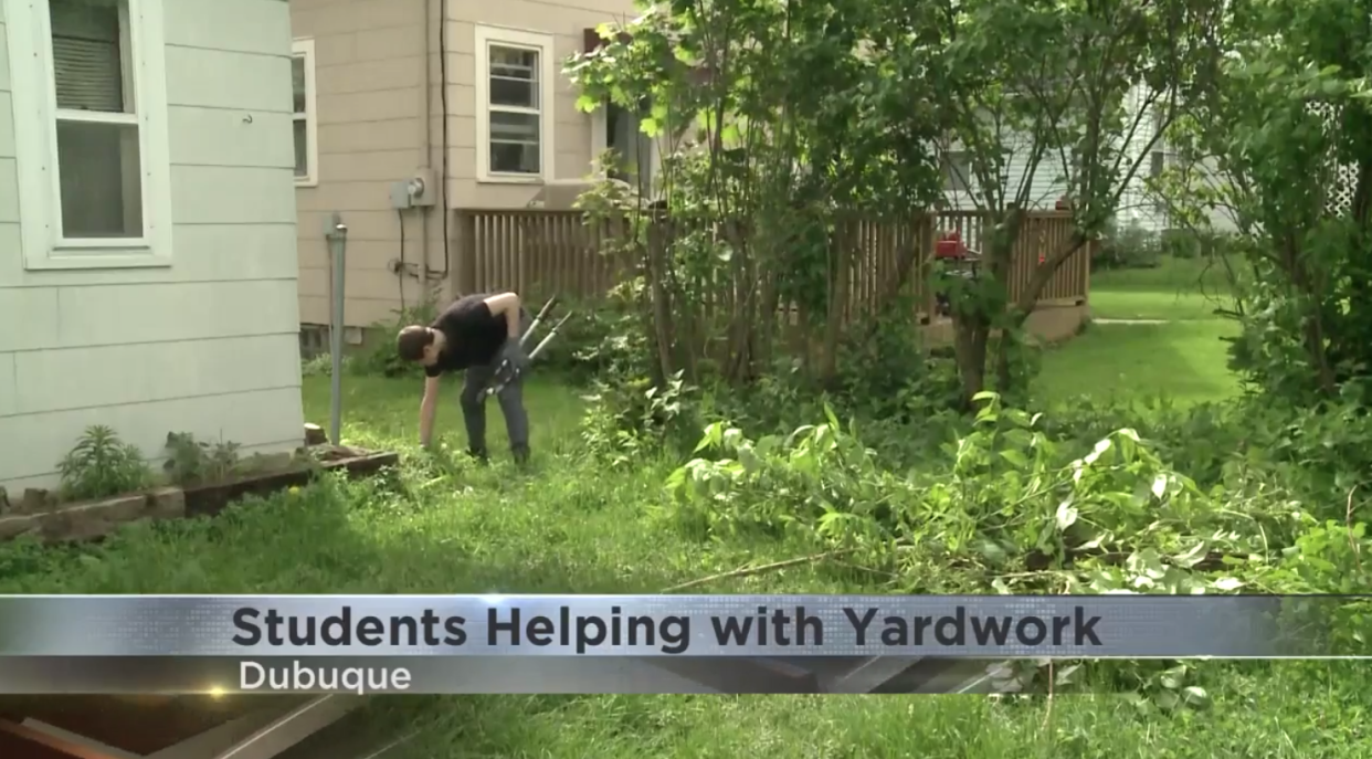
[[[25,269],[125,269],[172,265],[172,155],[167,137],[163,0],[123,0],[143,176],[140,237],[64,237],[58,173],[58,97],[48,0],[0,0],[10,29],[10,78],[18,148]],[[80,111],[66,111],[75,121]],[[114,117],[114,118],[110,118]],[[118,114],[89,121],[114,122]]]

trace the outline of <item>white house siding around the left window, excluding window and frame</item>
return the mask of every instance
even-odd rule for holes
[[[3,11],[0,11],[3,12]],[[26,270],[0,18],[0,484],[52,486],[91,424],[248,452],[302,435],[283,0],[166,0],[173,261]],[[21,115],[22,118],[22,115]]]

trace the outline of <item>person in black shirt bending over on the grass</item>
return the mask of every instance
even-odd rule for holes
[[[486,388],[508,380],[497,394],[514,461],[528,460],[528,414],[524,412],[523,373],[528,357],[520,335],[528,313],[519,295],[466,295],[449,305],[434,324],[412,324],[401,329],[395,346],[403,361],[424,366],[424,401],[420,402],[420,445],[434,439],[439,380],[451,372],[466,372],[462,386],[462,420],[466,423],[468,453],[486,461]],[[501,372],[506,375],[501,375]]]

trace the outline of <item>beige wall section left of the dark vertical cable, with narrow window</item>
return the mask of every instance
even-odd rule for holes
[[[348,325],[394,318],[402,302],[420,301],[425,261],[442,275],[440,215],[391,206],[391,185],[442,155],[440,110],[425,99],[425,89],[431,100],[439,92],[436,19],[436,0],[291,0],[295,100],[305,115],[295,192],[305,324],[329,321],[324,232],[333,213],[348,228]]]

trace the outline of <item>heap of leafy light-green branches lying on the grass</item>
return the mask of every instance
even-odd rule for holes
[[[1329,484],[1347,486],[1367,464],[1347,452],[1335,465],[1343,479],[1318,474],[1323,464],[1294,474],[1327,443],[1343,450],[1328,427],[1340,423],[1288,417],[1283,425],[1273,412],[1253,447],[1235,450],[1217,446],[1239,430],[1229,425],[1236,417],[1214,412],[1190,427],[1180,414],[1157,414],[1158,441],[1132,427],[1091,438],[1006,408],[995,395],[980,401],[974,424],[908,472],[890,467],[831,410],[822,424],[789,435],[750,438],[735,425],[709,424],[696,458],[668,479],[672,498],[660,513],[702,538],[786,534],[842,549],[890,576],[890,590],[900,593],[1372,587],[1372,565],[1360,559],[1372,541],[1353,494],[1347,504],[1338,497],[1336,509],[1328,498]],[[1306,428],[1323,439],[1306,439]],[[1206,443],[1187,447],[1184,438],[1202,430],[1210,431]],[[1207,482],[1172,456],[1196,456]],[[1365,649],[1372,607],[1350,601],[1318,611],[1328,646]],[[1157,685],[1165,671],[1126,670],[1111,677],[1129,688]]]

